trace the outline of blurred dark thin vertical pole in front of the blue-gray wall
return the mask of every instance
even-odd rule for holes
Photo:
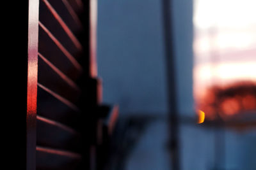
[[[173,53],[171,0],[162,0],[163,6],[163,31],[166,56],[166,76],[168,85],[168,111],[170,121],[170,154],[172,158],[172,169],[179,170],[179,120],[177,113],[176,74],[175,59]]]

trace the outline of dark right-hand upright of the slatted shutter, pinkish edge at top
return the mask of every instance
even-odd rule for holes
[[[82,97],[79,101],[79,107],[82,111],[81,133],[83,135],[83,164],[81,169],[96,169],[96,148],[95,136],[96,125],[95,108],[97,97],[97,0],[82,0],[83,13],[79,15],[84,30],[80,41],[83,44],[83,57],[81,59],[84,68],[83,76],[79,81],[82,90]]]

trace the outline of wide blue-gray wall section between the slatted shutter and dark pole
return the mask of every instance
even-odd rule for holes
[[[99,0],[104,101],[127,113],[166,113],[161,1]]]

